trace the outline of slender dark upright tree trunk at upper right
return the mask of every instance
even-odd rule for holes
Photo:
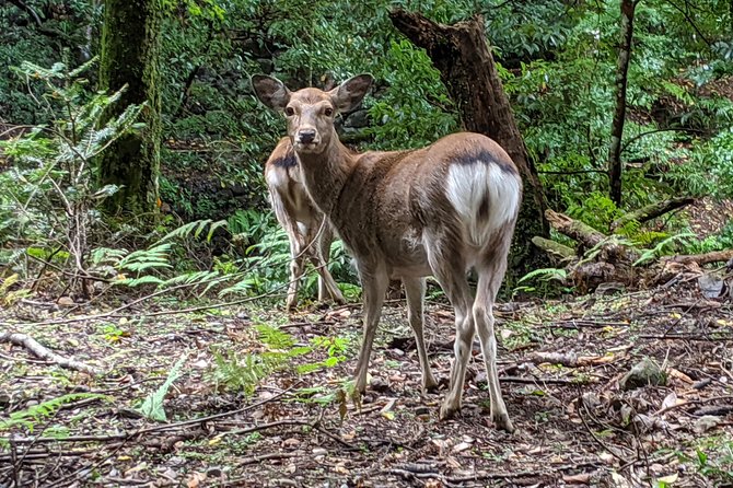
[[[616,70],[616,109],[610,126],[610,148],[608,150],[608,179],[610,182],[610,199],[617,207],[621,206],[621,138],[626,119],[626,84],[631,59],[631,40],[633,38],[633,11],[638,0],[621,0],[621,35],[618,46],[618,65]]]

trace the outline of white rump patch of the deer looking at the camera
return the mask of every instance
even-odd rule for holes
[[[446,195],[475,246],[486,244],[491,233],[514,218],[520,205],[520,183],[496,163],[452,164]],[[479,209],[488,199],[488,218]]]

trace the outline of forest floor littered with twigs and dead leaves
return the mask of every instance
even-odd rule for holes
[[[0,342],[0,487],[733,486],[733,304],[705,299],[696,279],[497,306],[512,434],[490,421],[478,347],[462,413],[438,420],[445,388],[421,393],[402,301],[385,306],[360,407],[338,393],[358,304],[151,315],[167,306],[69,323],[39,302],[0,312],[0,332],[104,371]],[[452,311],[429,302],[427,321],[446,379]],[[141,418],[136,405],[182,356],[167,421]],[[666,381],[623,388],[644,359]]]

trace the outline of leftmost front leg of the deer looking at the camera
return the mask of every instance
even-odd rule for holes
[[[369,357],[372,352],[372,344],[376,326],[382,315],[382,304],[384,303],[384,293],[387,291],[389,278],[385,270],[365,270],[359,267],[359,277],[364,303],[364,332],[361,342],[361,351],[357,361],[357,371],[354,373],[354,390],[363,393],[366,390],[366,371],[369,370]]]

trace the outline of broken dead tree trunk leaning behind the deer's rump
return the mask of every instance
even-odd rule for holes
[[[531,269],[545,258],[531,242],[535,235],[549,235],[545,219],[547,204],[487,45],[482,18],[442,25],[405,10],[395,10],[389,16],[412,44],[427,50],[458,107],[466,130],[496,140],[519,167],[524,199],[510,267],[520,274]]]

